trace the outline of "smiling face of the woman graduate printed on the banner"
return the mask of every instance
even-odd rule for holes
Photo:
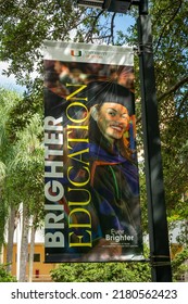
[[[113,143],[123,137],[129,123],[129,115],[124,105],[105,102],[98,111],[96,121],[103,136]]]

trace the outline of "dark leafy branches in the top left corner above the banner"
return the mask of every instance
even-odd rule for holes
[[[1,0],[1,60],[11,60],[11,73],[16,74],[21,83],[28,80],[35,62],[41,58],[43,39],[68,39],[70,30],[80,16],[72,10],[71,2]]]

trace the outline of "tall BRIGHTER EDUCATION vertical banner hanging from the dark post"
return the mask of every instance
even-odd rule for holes
[[[142,259],[130,48],[45,42],[46,262]]]

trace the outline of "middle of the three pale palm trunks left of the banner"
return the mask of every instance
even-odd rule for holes
[[[26,281],[26,266],[28,259],[28,229],[29,229],[29,216],[28,207],[23,204],[23,229],[22,229],[22,242],[21,242],[21,264],[18,281]]]

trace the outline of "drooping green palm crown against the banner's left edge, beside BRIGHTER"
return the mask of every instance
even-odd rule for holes
[[[11,163],[11,175],[7,188],[12,193],[12,200],[28,202],[32,214],[42,211],[43,202],[43,148],[41,144],[42,124],[36,113],[25,128],[16,132],[14,153],[16,157]],[[14,190],[16,188],[17,191]],[[36,204],[38,206],[36,211]],[[41,205],[41,208],[39,206]]]

